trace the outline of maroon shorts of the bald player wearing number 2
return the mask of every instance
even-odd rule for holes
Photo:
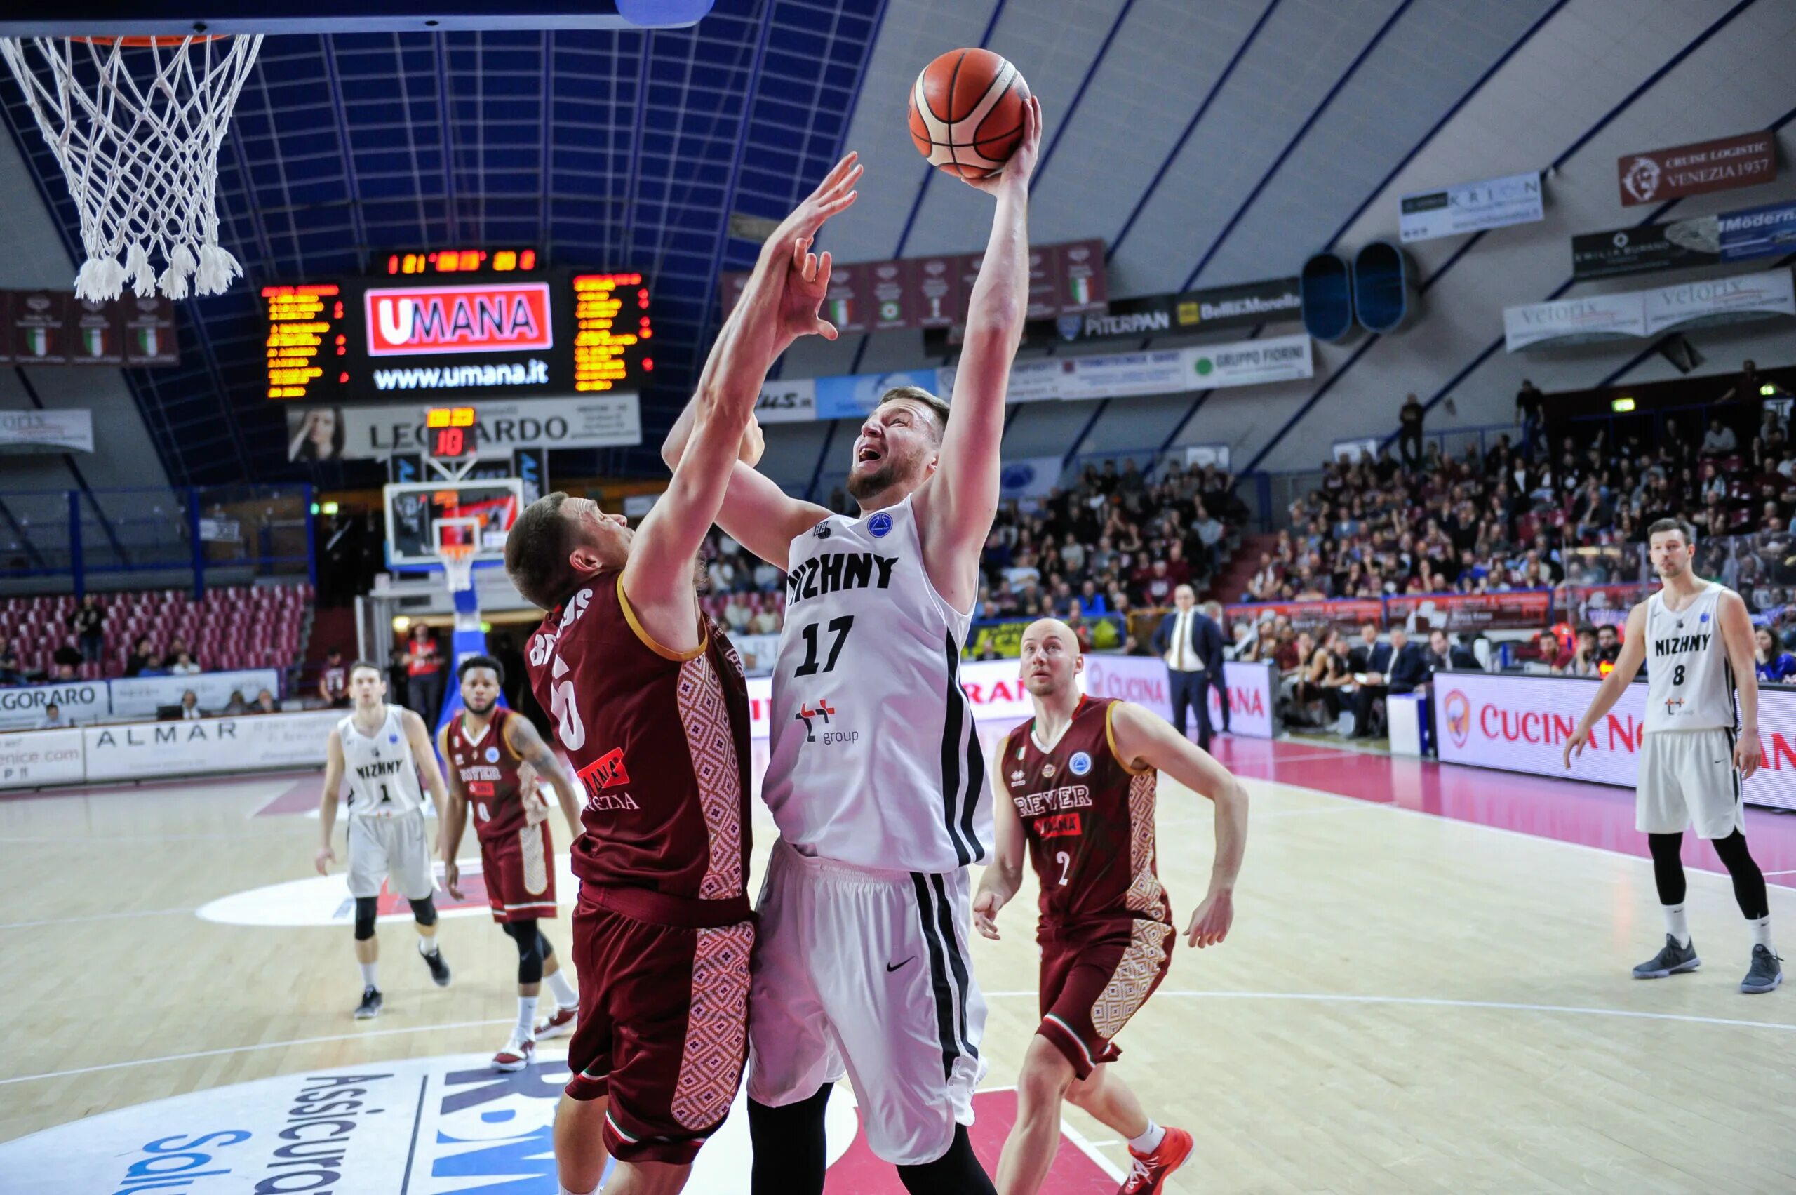
[[[1088,1078],[1092,1067],[1122,1051],[1115,1035],[1148,1003],[1173,963],[1171,924],[1140,916],[1056,925],[1042,922],[1042,1037],[1067,1055],[1072,1071]]]

